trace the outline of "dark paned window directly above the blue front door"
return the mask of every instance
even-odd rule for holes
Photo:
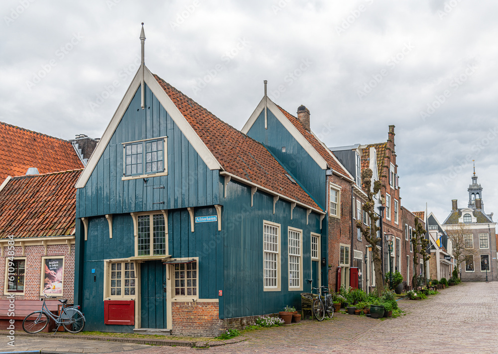
[[[166,254],[166,223],[163,214],[139,215],[137,218],[139,256]]]

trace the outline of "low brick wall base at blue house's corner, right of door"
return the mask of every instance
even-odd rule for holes
[[[225,331],[217,302],[173,302],[173,336],[218,336]]]

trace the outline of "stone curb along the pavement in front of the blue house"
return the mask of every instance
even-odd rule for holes
[[[6,336],[7,333],[0,331],[0,335]],[[106,341],[106,342],[118,342],[118,343],[131,343],[131,344],[143,344],[152,346],[169,346],[169,347],[190,347],[190,348],[211,348],[225,346],[227,344],[235,344],[239,342],[247,341],[248,338],[244,336],[239,336],[226,341],[200,341],[200,342],[188,342],[188,341],[168,341],[159,339],[147,339],[147,338],[117,338],[117,337],[104,337],[104,336],[78,336],[78,335],[49,335],[43,333],[29,334],[29,333],[16,333],[16,336],[21,337],[41,337],[41,338],[54,338],[54,339],[80,339],[88,341]],[[39,353],[39,351],[36,351]],[[9,352],[11,353],[11,352]],[[41,351],[41,354],[64,354],[62,352],[47,352]]]

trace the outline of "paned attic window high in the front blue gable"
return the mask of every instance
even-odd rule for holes
[[[164,140],[124,144],[124,175],[139,176],[164,172]]]

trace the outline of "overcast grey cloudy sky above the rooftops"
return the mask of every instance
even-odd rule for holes
[[[0,121],[101,137],[140,56],[241,129],[263,95],[304,104],[327,146],[387,139],[401,204],[441,222],[472,160],[498,213],[498,3],[492,0],[3,0]]]

